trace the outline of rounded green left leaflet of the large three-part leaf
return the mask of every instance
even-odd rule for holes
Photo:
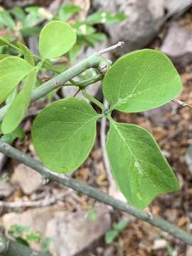
[[[75,97],[46,107],[32,128],[34,146],[43,164],[60,173],[78,169],[95,142],[98,117],[90,104]]]

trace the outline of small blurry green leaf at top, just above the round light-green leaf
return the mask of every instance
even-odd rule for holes
[[[61,21],[68,21],[70,16],[78,14],[81,11],[79,6],[63,4],[59,9],[59,18]]]

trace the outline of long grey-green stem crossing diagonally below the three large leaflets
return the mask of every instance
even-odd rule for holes
[[[176,227],[176,225],[173,225],[162,218],[151,215],[151,213],[149,214],[144,210],[137,210],[132,206],[129,206],[127,203],[119,201],[113,198],[112,196],[107,195],[107,193],[102,193],[97,188],[92,188],[91,186],[88,186],[80,181],[76,181],[73,178],[66,177],[65,175],[62,174],[56,174],[48,170],[45,166],[43,166],[43,164],[41,164],[41,162],[33,159],[31,156],[23,154],[21,151],[15,149],[13,146],[10,146],[9,144],[6,144],[5,142],[1,142],[1,140],[0,151],[6,154],[7,156],[10,156],[11,158],[16,159],[23,164],[26,164],[32,169],[38,171],[42,176],[45,176],[46,178],[52,181],[61,183],[64,186],[68,186],[69,188],[73,188],[75,191],[78,191],[79,193],[83,193],[87,196],[90,196],[91,198],[95,198],[97,201],[112,206],[113,208],[117,208],[118,210],[122,210],[125,213],[128,213],[139,218],[140,220],[144,220],[145,222],[150,223],[151,225],[154,225],[160,228],[161,230],[164,230],[167,233],[173,235],[175,238],[178,238],[183,242],[186,242],[186,244],[192,245],[192,235],[186,233],[181,228]]]

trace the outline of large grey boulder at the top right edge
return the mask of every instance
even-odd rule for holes
[[[191,6],[188,0],[94,0],[93,8],[112,13],[121,12],[129,18],[122,23],[106,25],[113,42],[124,41],[124,52],[146,47],[167,18]]]

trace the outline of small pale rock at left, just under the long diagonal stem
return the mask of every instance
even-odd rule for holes
[[[42,186],[41,174],[24,164],[18,164],[11,177],[13,183],[18,183],[23,193],[31,195]]]

